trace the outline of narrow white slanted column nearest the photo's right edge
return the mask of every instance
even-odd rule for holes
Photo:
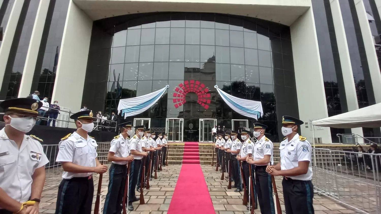
[[[381,102],[381,73],[378,65],[378,59],[373,42],[373,36],[370,31],[367,12],[365,11],[364,2],[362,0],[354,0],[356,5],[357,16],[359,17],[360,29],[367,54],[368,67],[375,94],[376,103]]]

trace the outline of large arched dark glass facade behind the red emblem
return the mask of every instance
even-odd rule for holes
[[[160,101],[134,122],[149,120],[150,127],[167,131],[178,126],[183,141],[211,141],[213,125],[253,127],[255,120],[232,111],[215,85],[233,96],[261,101],[265,114],[258,120],[269,126],[267,137],[275,142],[282,137],[282,115],[298,117],[288,26],[214,13],[94,21],[82,104],[110,115],[117,112],[119,99],[144,96],[167,84]],[[207,93],[179,97],[176,88],[186,85]]]

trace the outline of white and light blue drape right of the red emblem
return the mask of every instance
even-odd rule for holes
[[[235,112],[246,116],[255,118],[258,120],[259,117],[263,116],[262,104],[259,101],[247,100],[232,96],[227,94],[223,90],[219,89],[217,85],[215,85],[215,89],[222,97],[224,102],[229,105]]]

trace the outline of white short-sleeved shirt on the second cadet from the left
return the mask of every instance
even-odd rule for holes
[[[56,162],[72,162],[79,166],[96,167],[95,158],[98,157],[96,152],[98,144],[92,137],[87,136],[87,139],[84,139],[77,132],[74,132],[59,142],[58,147]],[[87,177],[91,175],[91,172],[74,173],[64,171],[62,178],[71,179],[73,177]]]

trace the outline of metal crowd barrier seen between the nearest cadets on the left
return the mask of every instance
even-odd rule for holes
[[[51,187],[56,187],[60,184],[62,180],[62,166],[56,162],[58,154],[58,144],[56,145],[42,145],[46,157],[49,159],[49,163],[45,165],[45,185],[44,190]],[[103,164],[111,164],[110,161],[107,161],[107,155],[110,149],[110,142],[98,142],[97,153],[98,160],[102,161]]]

